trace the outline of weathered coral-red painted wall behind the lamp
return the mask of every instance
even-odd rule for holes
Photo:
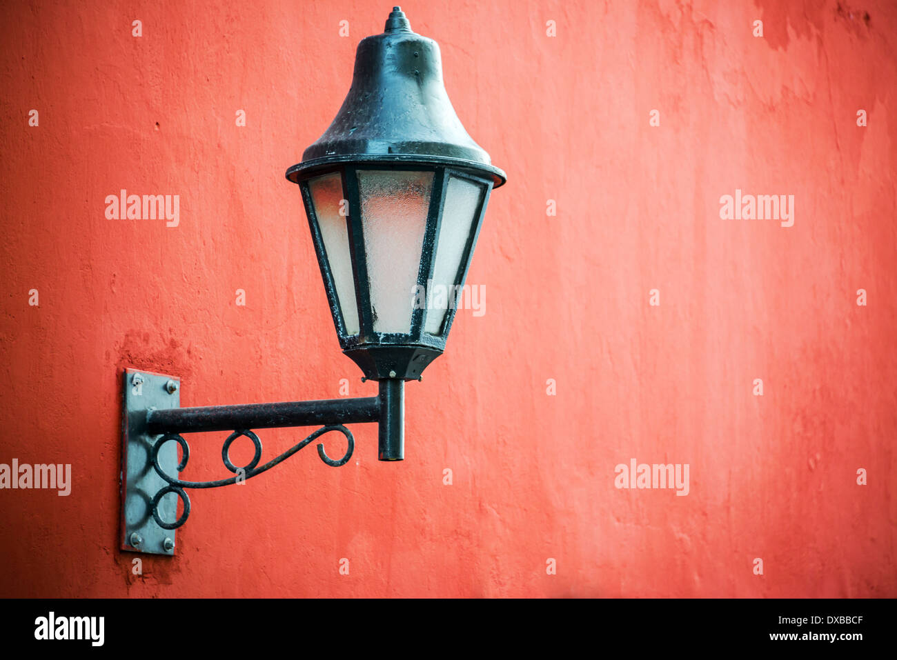
[[[0,595],[897,595],[897,11],[855,0],[404,5],[508,172],[486,313],[407,386],[404,463],[361,425],[342,468],[309,448],[195,491],[177,557],[132,574],[122,369],[184,405],[376,391],[283,172],[390,6],[4,6],[0,463],[74,485],[0,491]],[[179,226],[108,220],[121,188],[180,195]],[[794,226],[721,219],[736,188],[795,195]],[[259,432],[266,456],[304,434]],[[225,435],[185,478],[227,475]],[[690,465],[689,494],[616,489],[633,457]]]

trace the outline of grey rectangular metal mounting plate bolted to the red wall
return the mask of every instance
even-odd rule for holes
[[[124,420],[121,445],[121,549],[173,555],[175,531],[156,524],[150,500],[168,485],[152,468],[150,450],[160,436],[146,434],[146,412],[180,407],[180,379],[140,369],[125,369]],[[168,474],[178,473],[178,443],[159,451],[159,464]],[[178,496],[168,493],[159,502],[164,521],[178,517]],[[166,539],[169,543],[166,544]],[[166,545],[170,550],[166,550]]]

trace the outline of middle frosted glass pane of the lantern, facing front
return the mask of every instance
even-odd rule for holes
[[[411,332],[432,172],[359,170],[374,332]]]

